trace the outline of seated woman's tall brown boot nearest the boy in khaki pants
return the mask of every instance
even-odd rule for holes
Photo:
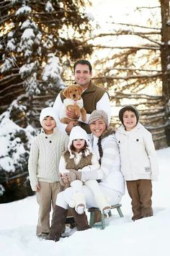
[[[50,232],[47,237],[48,240],[54,240],[55,242],[57,242],[60,239],[63,227],[65,226],[67,213],[67,209],[55,205],[55,208],[53,210],[53,218],[50,226]]]

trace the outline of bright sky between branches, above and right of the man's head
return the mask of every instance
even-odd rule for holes
[[[137,33],[141,31],[143,33],[148,33],[149,31],[155,32],[155,30],[146,29],[145,27],[158,27],[158,23],[161,22],[160,8],[148,8],[159,7],[160,4],[158,0],[132,0],[130,2],[126,0],[119,0],[118,2],[115,0],[94,0],[92,4],[91,7],[86,9],[86,12],[92,14],[94,17],[94,22],[92,22],[92,25],[94,25],[93,35],[115,33],[121,30],[130,30],[131,33],[133,33],[133,31]],[[96,23],[99,24],[97,28]],[[137,26],[131,27],[122,24]],[[113,46],[141,46],[151,42],[138,35],[119,35],[95,38],[89,41],[89,43],[111,47],[97,48],[97,51],[94,51],[91,55],[91,60],[94,62],[109,55],[112,51],[114,51],[115,54],[120,52],[119,48],[112,49]],[[143,54],[142,51],[140,51],[140,53]],[[140,53],[138,56],[139,59],[141,58]],[[143,59],[143,61],[145,61],[145,59]],[[141,62],[139,63],[141,64]]]

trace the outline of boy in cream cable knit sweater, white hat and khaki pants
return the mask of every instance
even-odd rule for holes
[[[44,238],[50,229],[51,204],[54,208],[58,192],[61,191],[58,166],[63,150],[68,146],[68,135],[63,135],[56,128],[58,118],[51,107],[42,109],[40,124],[40,135],[31,144],[28,171],[39,204],[36,234]]]

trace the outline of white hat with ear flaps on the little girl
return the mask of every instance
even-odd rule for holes
[[[74,155],[71,153],[71,144],[73,140],[79,140],[79,139],[86,140],[87,148],[89,150],[86,150],[85,155],[89,155],[89,153],[92,152],[91,145],[90,145],[86,131],[79,126],[76,126],[71,129],[71,133],[69,136],[68,151],[70,152],[70,158],[74,157]]]

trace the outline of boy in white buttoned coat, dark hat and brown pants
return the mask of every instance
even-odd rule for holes
[[[158,164],[151,132],[138,122],[135,106],[125,106],[119,113],[122,126],[116,138],[120,146],[121,170],[132,199],[132,220],[153,216],[152,183],[158,178]]]

